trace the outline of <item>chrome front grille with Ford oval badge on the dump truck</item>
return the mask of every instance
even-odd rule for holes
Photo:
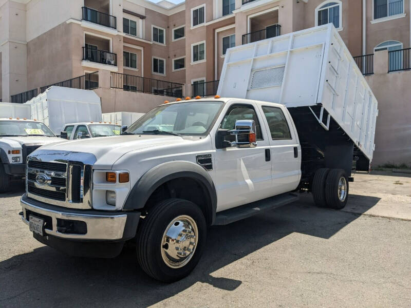
[[[88,153],[37,150],[27,158],[27,196],[70,208],[91,208],[91,173],[95,157]]]

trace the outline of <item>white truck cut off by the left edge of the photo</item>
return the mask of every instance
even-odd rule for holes
[[[10,181],[25,176],[26,158],[31,152],[61,141],[42,122],[0,118],[0,192],[10,189]]]

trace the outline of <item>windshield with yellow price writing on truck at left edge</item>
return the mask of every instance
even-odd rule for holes
[[[54,133],[41,122],[0,121],[0,137],[6,136],[55,137]]]

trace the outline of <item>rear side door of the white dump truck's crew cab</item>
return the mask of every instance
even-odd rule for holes
[[[258,103],[269,130],[273,193],[294,190],[301,179],[301,146],[286,107]]]

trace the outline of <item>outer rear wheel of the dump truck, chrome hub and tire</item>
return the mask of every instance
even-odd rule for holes
[[[331,169],[325,183],[328,207],[342,209],[348,200],[348,177],[343,169]]]

